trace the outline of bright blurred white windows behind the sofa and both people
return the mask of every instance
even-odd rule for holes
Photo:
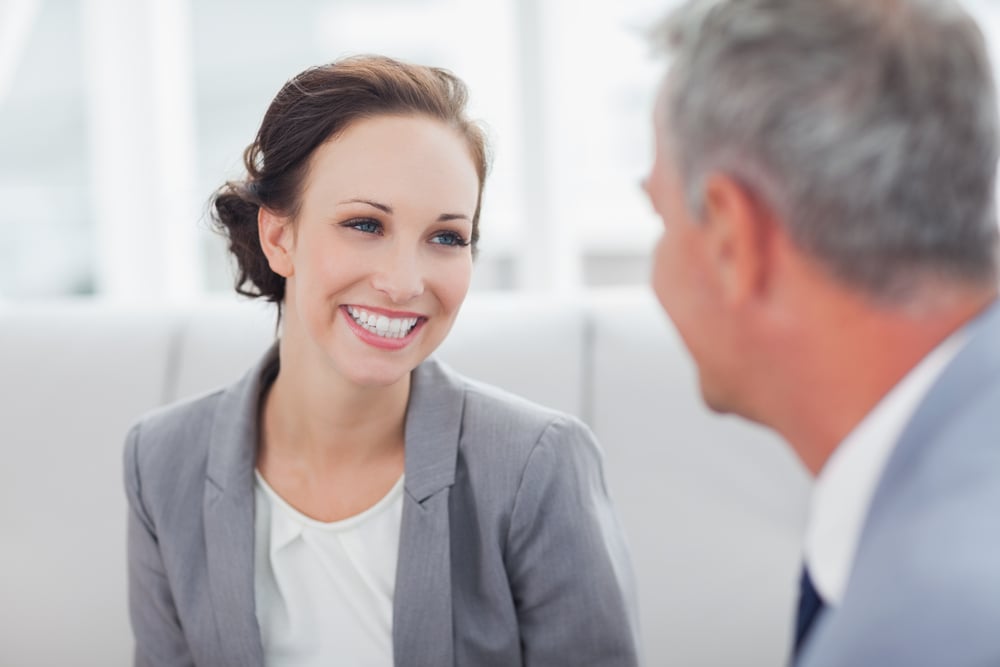
[[[231,290],[206,203],[281,85],[356,53],[464,78],[495,151],[474,289],[644,283],[676,0],[0,0],[0,300]],[[996,49],[997,0],[969,0]]]

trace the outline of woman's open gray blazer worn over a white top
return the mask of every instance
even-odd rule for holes
[[[276,372],[272,348],[238,383],[129,432],[136,665],[263,665],[253,470]],[[397,667],[637,664],[631,567],[584,425],[428,360],[405,456]]]

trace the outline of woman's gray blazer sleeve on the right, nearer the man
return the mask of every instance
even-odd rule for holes
[[[635,586],[590,430],[564,417],[525,465],[507,570],[526,667],[637,665]]]

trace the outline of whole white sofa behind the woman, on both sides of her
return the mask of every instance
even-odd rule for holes
[[[273,335],[253,302],[0,304],[0,665],[129,664],[125,431],[235,380]],[[647,290],[474,292],[438,354],[592,426],[646,664],[785,663],[808,477],[775,436],[702,406]]]

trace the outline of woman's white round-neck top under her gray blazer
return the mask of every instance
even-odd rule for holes
[[[254,491],[254,593],[268,667],[392,667],[403,478],[361,514],[323,523]]]

